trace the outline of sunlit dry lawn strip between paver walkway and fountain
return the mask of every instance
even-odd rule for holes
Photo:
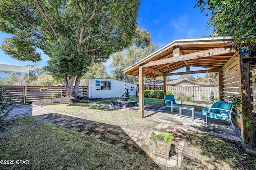
[[[103,101],[104,102],[104,101]],[[111,102],[110,102],[111,103]],[[137,109],[116,110],[102,106],[102,101],[78,104],[60,104],[43,106],[46,109],[60,111],[71,116],[81,117],[100,123],[118,125],[132,130],[149,133],[158,123],[139,117]]]

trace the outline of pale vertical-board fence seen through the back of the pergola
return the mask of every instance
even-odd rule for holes
[[[163,86],[156,87],[144,87],[144,90],[164,90]],[[191,90],[190,90],[191,89]],[[220,96],[219,88],[216,86],[166,86],[166,90],[169,90],[174,96],[180,99],[190,99],[192,101],[207,101],[210,100],[211,92],[214,92],[214,98]]]

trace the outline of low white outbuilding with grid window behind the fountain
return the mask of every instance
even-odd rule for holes
[[[80,86],[88,87],[88,98],[115,98],[124,94],[124,84],[129,87],[130,96],[136,96],[136,84],[107,78],[86,78],[80,80]],[[64,85],[63,83],[56,86]]]

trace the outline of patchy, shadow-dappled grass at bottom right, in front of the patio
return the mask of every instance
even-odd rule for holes
[[[188,135],[181,170],[255,170],[256,157],[240,142],[205,133]]]

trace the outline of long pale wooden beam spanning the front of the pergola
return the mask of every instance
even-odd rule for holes
[[[144,64],[142,67],[149,67],[149,66],[156,66],[156,65],[160,65],[160,64],[168,64],[168,63],[173,63],[173,62],[178,62],[178,61],[199,59],[199,58],[202,58],[202,57],[210,57],[210,56],[214,56],[214,55],[221,55],[221,54],[234,53],[234,52],[236,52],[235,48],[219,47],[219,48],[200,51],[200,52],[196,52],[196,53],[180,55],[178,57],[178,59],[174,59],[174,57],[170,57],[170,58],[167,58],[167,59],[160,59],[160,60],[156,60],[156,61],[150,61],[149,63]]]

